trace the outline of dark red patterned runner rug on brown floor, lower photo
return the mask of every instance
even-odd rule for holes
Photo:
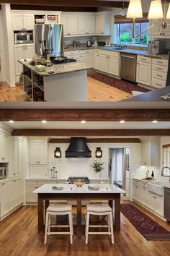
[[[146,240],[170,240],[170,232],[167,229],[153,221],[135,206],[128,203],[122,204],[121,212]]]

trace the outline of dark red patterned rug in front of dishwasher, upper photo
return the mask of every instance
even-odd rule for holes
[[[146,88],[142,88],[138,85],[135,85],[132,82],[119,80],[119,79],[116,79],[115,77],[109,77],[107,74],[98,73],[94,71],[94,69],[88,70],[88,77],[98,80],[99,82],[104,82],[105,84],[115,87],[117,89],[123,90],[125,93],[131,94],[132,90],[138,90],[143,93],[150,91]]]

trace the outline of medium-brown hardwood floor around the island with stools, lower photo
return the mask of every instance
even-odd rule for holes
[[[169,223],[140,206],[138,208],[170,230]],[[87,245],[84,244],[85,237],[77,239],[76,234],[72,245],[68,235],[48,236],[48,244],[43,244],[43,239],[44,234],[37,233],[36,206],[22,206],[0,222],[1,256],[169,256],[170,252],[170,241],[148,242],[122,213],[121,231],[115,231],[113,245],[106,235],[89,236]]]

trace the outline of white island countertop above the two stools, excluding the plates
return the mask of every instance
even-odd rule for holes
[[[54,184],[56,186],[56,184]],[[89,190],[88,186],[89,184],[84,184],[82,187],[76,187],[74,184],[57,184],[57,187],[63,187],[63,190],[53,190],[52,189],[53,184],[44,184],[38,189],[35,189],[33,193],[54,193],[54,194],[122,194],[125,193],[125,190],[120,189],[119,187],[116,187],[112,184],[90,184],[90,187],[99,187],[99,190]]]

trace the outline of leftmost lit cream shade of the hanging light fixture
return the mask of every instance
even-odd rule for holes
[[[130,0],[126,17],[130,19],[143,18],[141,0]]]

